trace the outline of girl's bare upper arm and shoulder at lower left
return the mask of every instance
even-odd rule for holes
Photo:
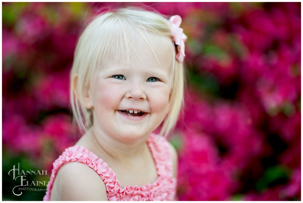
[[[79,162],[63,165],[55,178],[51,201],[107,201],[105,184],[90,167]]]

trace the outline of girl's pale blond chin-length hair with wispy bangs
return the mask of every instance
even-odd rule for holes
[[[79,129],[86,131],[93,124],[92,109],[85,108],[84,98],[89,81],[98,68],[105,67],[105,63],[113,58],[115,63],[121,59],[130,60],[135,53],[134,36],[144,39],[154,50],[151,39],[155,38],[151,35],[159,36],[157,39],[162,39],[162,46],[166,46],[173,57],[169,112],[163,120],[160,134],[166,136],[175,126],[183,104],[184,70],[183,64],[175,59],[171,25],[164,16],[154,11],[120,8],[95,17],[78,40],[71,70],[70,98],[73,119]]]

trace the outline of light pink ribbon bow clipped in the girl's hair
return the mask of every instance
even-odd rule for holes
[[[185,57],[185,41],[187,36],[183,33],[183,29],[180,28],[182,18],[179,15],[173,15],[169,18],[169,22],[171,23],[175,45],[177,45],[178,53],[176,55],[176,59],[182,63]]]

